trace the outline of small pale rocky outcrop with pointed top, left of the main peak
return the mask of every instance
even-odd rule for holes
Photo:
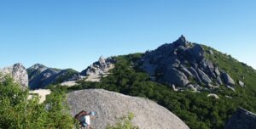
[[[104,59],[101,56],[97,62],[83,70],[81,76],[86,76],[86,81],[100,81],[103,76],[108,76],[109,70],[114,68],[113,62],[112,58]]]

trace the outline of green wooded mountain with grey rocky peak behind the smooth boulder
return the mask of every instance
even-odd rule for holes
[[[108,74],[103,75],[105,68]],[[75,82],[73,87],[57,85],[69,76],[52,81],[52,88],[104,88],[150,98],[191,128],[223,128],[238,107],[256,112],[255,70],[228,54],[188,42],[184,36],[146,53],[101,57],[84,73],[85,78],[70,79]],[[86,81],[90,75],[97,80]]]

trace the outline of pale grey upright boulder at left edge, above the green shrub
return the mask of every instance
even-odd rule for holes
[[[22,64],[14,64],[12,66],[0,70],[3,75],[9,75],[14,78],[15,82],[20,83],[23,88],[28,87],[28,76],[26,68]]]

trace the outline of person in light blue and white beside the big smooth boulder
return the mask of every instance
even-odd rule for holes
[[[93,127],[90,126],[90,120],[95,119],[96,113],[91,111],[90,113],[85,112],[82,110],[78,115],[76,115],[76,119],[79,120],[80,126],[83,129],[92,129]]]

